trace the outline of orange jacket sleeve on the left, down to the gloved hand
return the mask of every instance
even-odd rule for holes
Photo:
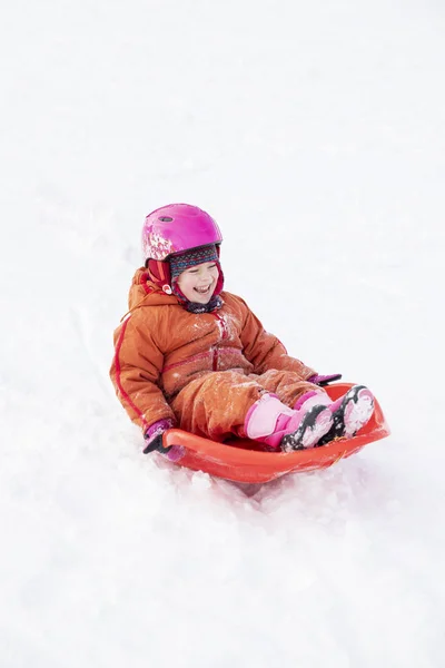
[[[130,316],[115,332],[115,357],[110,376],[116,394],[128,415],[144,432],[159,420],[175,414],[158,385],[164,355],[147,327]]]

